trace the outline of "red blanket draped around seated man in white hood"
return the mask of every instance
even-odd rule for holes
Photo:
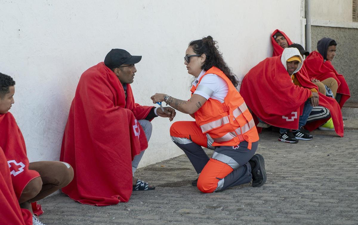
[[[300,73],[295,75],[303,87],[292,83],[281,63],[281,56],[266,58],[246,74],[240,94],[252,112],[264,122],[276,127],[297,129],[303,104],[311,95],[309,89],[318,87]],[[337,111],[329,104],[332,103],[330,99],[320,96],[319,102],[321,106]],[[332,118],[337,134],[343,136],[343,123],[339,123],[342,121],[340,110]]]

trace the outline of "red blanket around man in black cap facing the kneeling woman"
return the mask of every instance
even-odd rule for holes
[[[61,161],[71,164],[72,182],[62,191],[82,204],[105,206],[127,202],[132,194],[133,157],[148,146],[137,122],[153,107],[127,98],[117,76],[104,63],[79,79],[69,111]]]

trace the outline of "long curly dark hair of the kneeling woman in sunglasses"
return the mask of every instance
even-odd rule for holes
[[[224,62],[222,53],[219,52],[219,47],[216,44],[217,41],[214,41],[212,36],[207,36],[200,40],[191,41],[189,46],[193,48],[196,54],[206,55],[202,69],[207,71],[212,67],[219,68],[230,79],[234,87],[237,87],[237,77],[232,72],[231,68],[229,68],[228,65]]]

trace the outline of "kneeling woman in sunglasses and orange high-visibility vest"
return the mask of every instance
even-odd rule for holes
[[[191,98],[185,101],[156,93],[151,99],[153,103],[164,101],[195,119],[170,127],[171,140],[200,174],[193,186],[204,193],[223,191],[251,179],[253,187],[262,186],[265,162],[260,154],[254,155],[259,139],[255,123],[216,41],[207,36],[190,42],[184,64],[195,78]],[[202,146],[214,150],[210,159]]]

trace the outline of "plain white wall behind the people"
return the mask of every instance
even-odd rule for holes
[[[301,1],[0,1],[0,72],[16,81],[11,108],[30,161],[58,160],[68,110],[81,74],[112,48],[142,55],[132,88],[136,102],[166,93],[190,96],[183,57],[189,41],[212,35],[242,79],[272,54],[280,29],[300,43]],[[178,113],[175,121],[188,120]],[[182,154],[167,119],[153,121],[141,166]]]

